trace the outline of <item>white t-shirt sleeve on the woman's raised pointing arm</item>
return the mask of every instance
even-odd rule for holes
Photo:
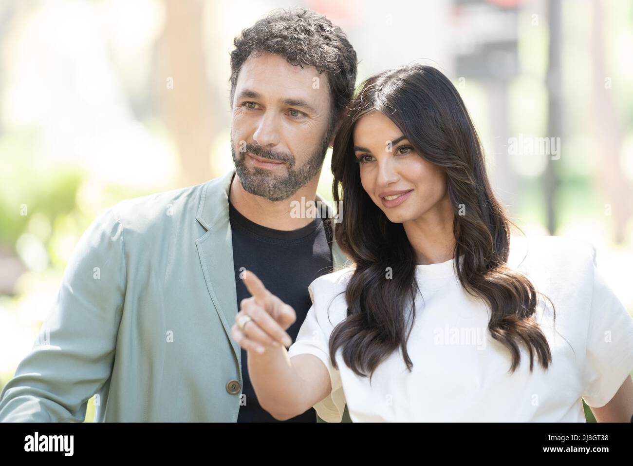
[[[335,304],[330,307],[329,316],[328,307],[330,302],[333,302],[335,293],[341,291],[337,288],[334,283],[323,280],[323,278],[317,278],[310,283],[308,290],[313,304],[299,329],[296,340],[288,349],[288,355],[291,358],[298,354],[313,354],[327,368],[332,392],[313,406],[316,413],[327,422],[341,422],[345,410],[345,394],[341,383],[341,373],[332,366],[329,351],[330,333],[338,321],[335,320],[335,314],[337,314]],[[338,311],[340,314],[341,309]]]

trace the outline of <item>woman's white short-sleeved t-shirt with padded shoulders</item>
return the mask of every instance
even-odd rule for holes
[[[558,333],[551,304],[539,295],[537,322],[553,362],[544,371],[535,354],[532,373],[523,344],[520,365],[509,372],[510,352],[487,331],[486,304],[463,291],[453,262],[417,266],[423,301],[415,300],[407,346],[412,372],[398,349],[378,366],[372,385],[345,365],[341,347],[338,369],[330,363],[330,333],[347,310],[338,293],[351,269],[310,284],[313,306],[288,353],[313,354],[329,371],[332,392],[314,405],[323,420],[341,422],[347,403],[353,422],[585,422],[581,397],[595,407],[613,398],[633,370],[633,319],[596,268],[591,243],[511,238],[508,265],[556,306]]]

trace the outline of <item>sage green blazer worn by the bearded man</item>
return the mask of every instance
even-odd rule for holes
[[[93,396],[96,422],[237,420],[233,173],[123,200],[97,217],[2,391],[0,421],[82,422]],[[348,258],[332,246],[338,268]]]

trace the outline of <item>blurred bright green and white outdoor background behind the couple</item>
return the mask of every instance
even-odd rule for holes
[[[591,241],[633,313],[628,0],[3,1],[0,389],[100,212],[232,168],[233,37],[289,6],[319,11],[347,32],[361,60],[358,82],[411,61],[451,77],[511,219],[528,235]],[[513,150],[521,138],[555,138],[558,155]],[[319,191],[331,199],[329,164],[330,154]]]

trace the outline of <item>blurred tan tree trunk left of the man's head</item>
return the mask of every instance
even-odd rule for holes
[[[217,132],[206,75],[203,10],[200,0],[165,0],[165,30],[156,44],[158,101],[178,148],[181,186],[211,178],[210,148]]]

